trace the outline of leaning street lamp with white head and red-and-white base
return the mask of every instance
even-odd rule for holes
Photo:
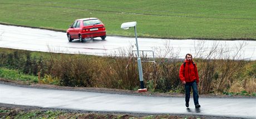
[[[121,28],[122,29],[129,29],[130,27],[134,27],[136,47],[137,47],[137,62],[138,62],[139,77],[140,77],[140,89],[138,90],[138,92],[146,92],[147,88],[144,88],[141,59],[140,59],[139,46],[138,46],[138,41],[137,41],[136,24],[137,24],[137,22],[125,22],[125,23],[121,24]]]

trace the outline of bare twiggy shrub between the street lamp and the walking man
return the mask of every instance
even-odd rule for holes
[[[178,88],[183,88],[179,80],[179,68],[181,65],[178,59],[179,50],[175,52],[174,48],[170,45],[169,40],[165,41],[164,47],[154,47],[157,56],[156,59],[156,75],[154,80],[154,90],[160,92],[176,91]]]

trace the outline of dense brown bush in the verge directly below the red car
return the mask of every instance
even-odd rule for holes
[[[52,59],[52,75],[60,78],[61,86],[95,86],[92,59],[76,54]]]

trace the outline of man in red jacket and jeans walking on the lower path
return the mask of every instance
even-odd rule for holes
[[[191,54],[186,54],[185,62],[180,66],[180,80],[185,86],[186,91],[186,107],[189,107],[189,98],[190,98],[190,91],[191,87],[193,89],[193,98],[194,98],[194,104],[195,108],[199,108],[199,102],[198,102],[198,83],[199,83],[199,77],[198,77],[198,69],[196,68],[195,63],[192,60]]]

